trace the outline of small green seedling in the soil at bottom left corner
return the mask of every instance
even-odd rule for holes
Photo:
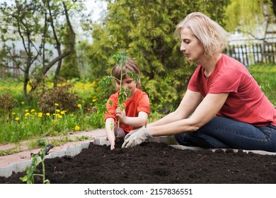
[[[50,180],[45,179],[45,156],[48,154],[52,146],[52,144],[48,144],[45,146],[45,141],[40,141],[38,144],[42,146],[42,149],[38,153],[30,153],[30,156],[32,157],[32,163],[30,167],[26,168],[26,175],[24,177],[20,177],[20,180],[23,182],[27,182],[27,184],[34,184],[35,183],[35,176],[42,177],[42,183],[43,184],[50,184]],[[38,165],[41,163],[42,165],[42,174],[38,174],[35,172],[39,172]]]

